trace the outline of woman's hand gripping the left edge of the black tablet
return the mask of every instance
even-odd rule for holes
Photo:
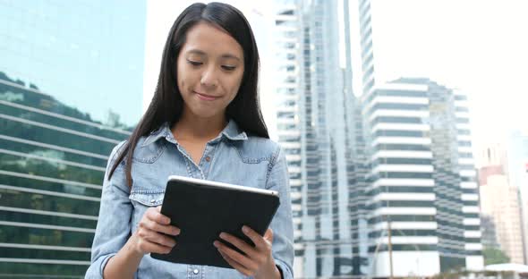
[[[149,207],[141,218],[138,230],[133,234],[133,248],[142,255],[149,253],[168,254],[176,245],[173,238],[163,233],[178,235],[180,229],[170,225],[170,219],[162,215],[160,211],[161,206]]]

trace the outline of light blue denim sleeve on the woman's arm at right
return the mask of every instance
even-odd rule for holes
[[[280,206],[271,221],[273,230],[273,258],[280,268],[284,279],[294,278],[294,224],[292,219],[292,203],[290,199],[290,183],[285,154],[282,148],[277,148],[270,163],[266,188],[277,190]]]

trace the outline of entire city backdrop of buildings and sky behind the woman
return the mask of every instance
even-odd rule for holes
[[[528,264],[528,4],[226,3],[257,38],[296,278]],[[0,0],[0,277],[83,277],[109,152],[189,4]]]

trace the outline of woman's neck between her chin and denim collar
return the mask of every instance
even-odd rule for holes
[[[226,128],[226,116],[200,117],[185,114],[175,123],[172,131],[175,139],[214,139]]]

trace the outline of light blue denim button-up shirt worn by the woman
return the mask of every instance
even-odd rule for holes
[[[166,179],[181,175],[247,187],[277,190],[280,207],[270,227],[272,255],[284,278],[294,278],[293,224],[285,154],[270,139],[248,136],[233,120],[216,139],[210,140],[196,165],[178,144],[168,124],[142,137],[132,156],[132,189],[126,183],[124,160],[107,179],[123,143],[117,145],[106,166],[98,225],[86,278],[102,278],[114,256],[138,229],[149,207],[163,202]],[[177,244],[176,244],[177,245]],[[212,243],[211,243],[212,245]],[[248,278],[235,269],[175,264],[143,256],[135,278]]]

